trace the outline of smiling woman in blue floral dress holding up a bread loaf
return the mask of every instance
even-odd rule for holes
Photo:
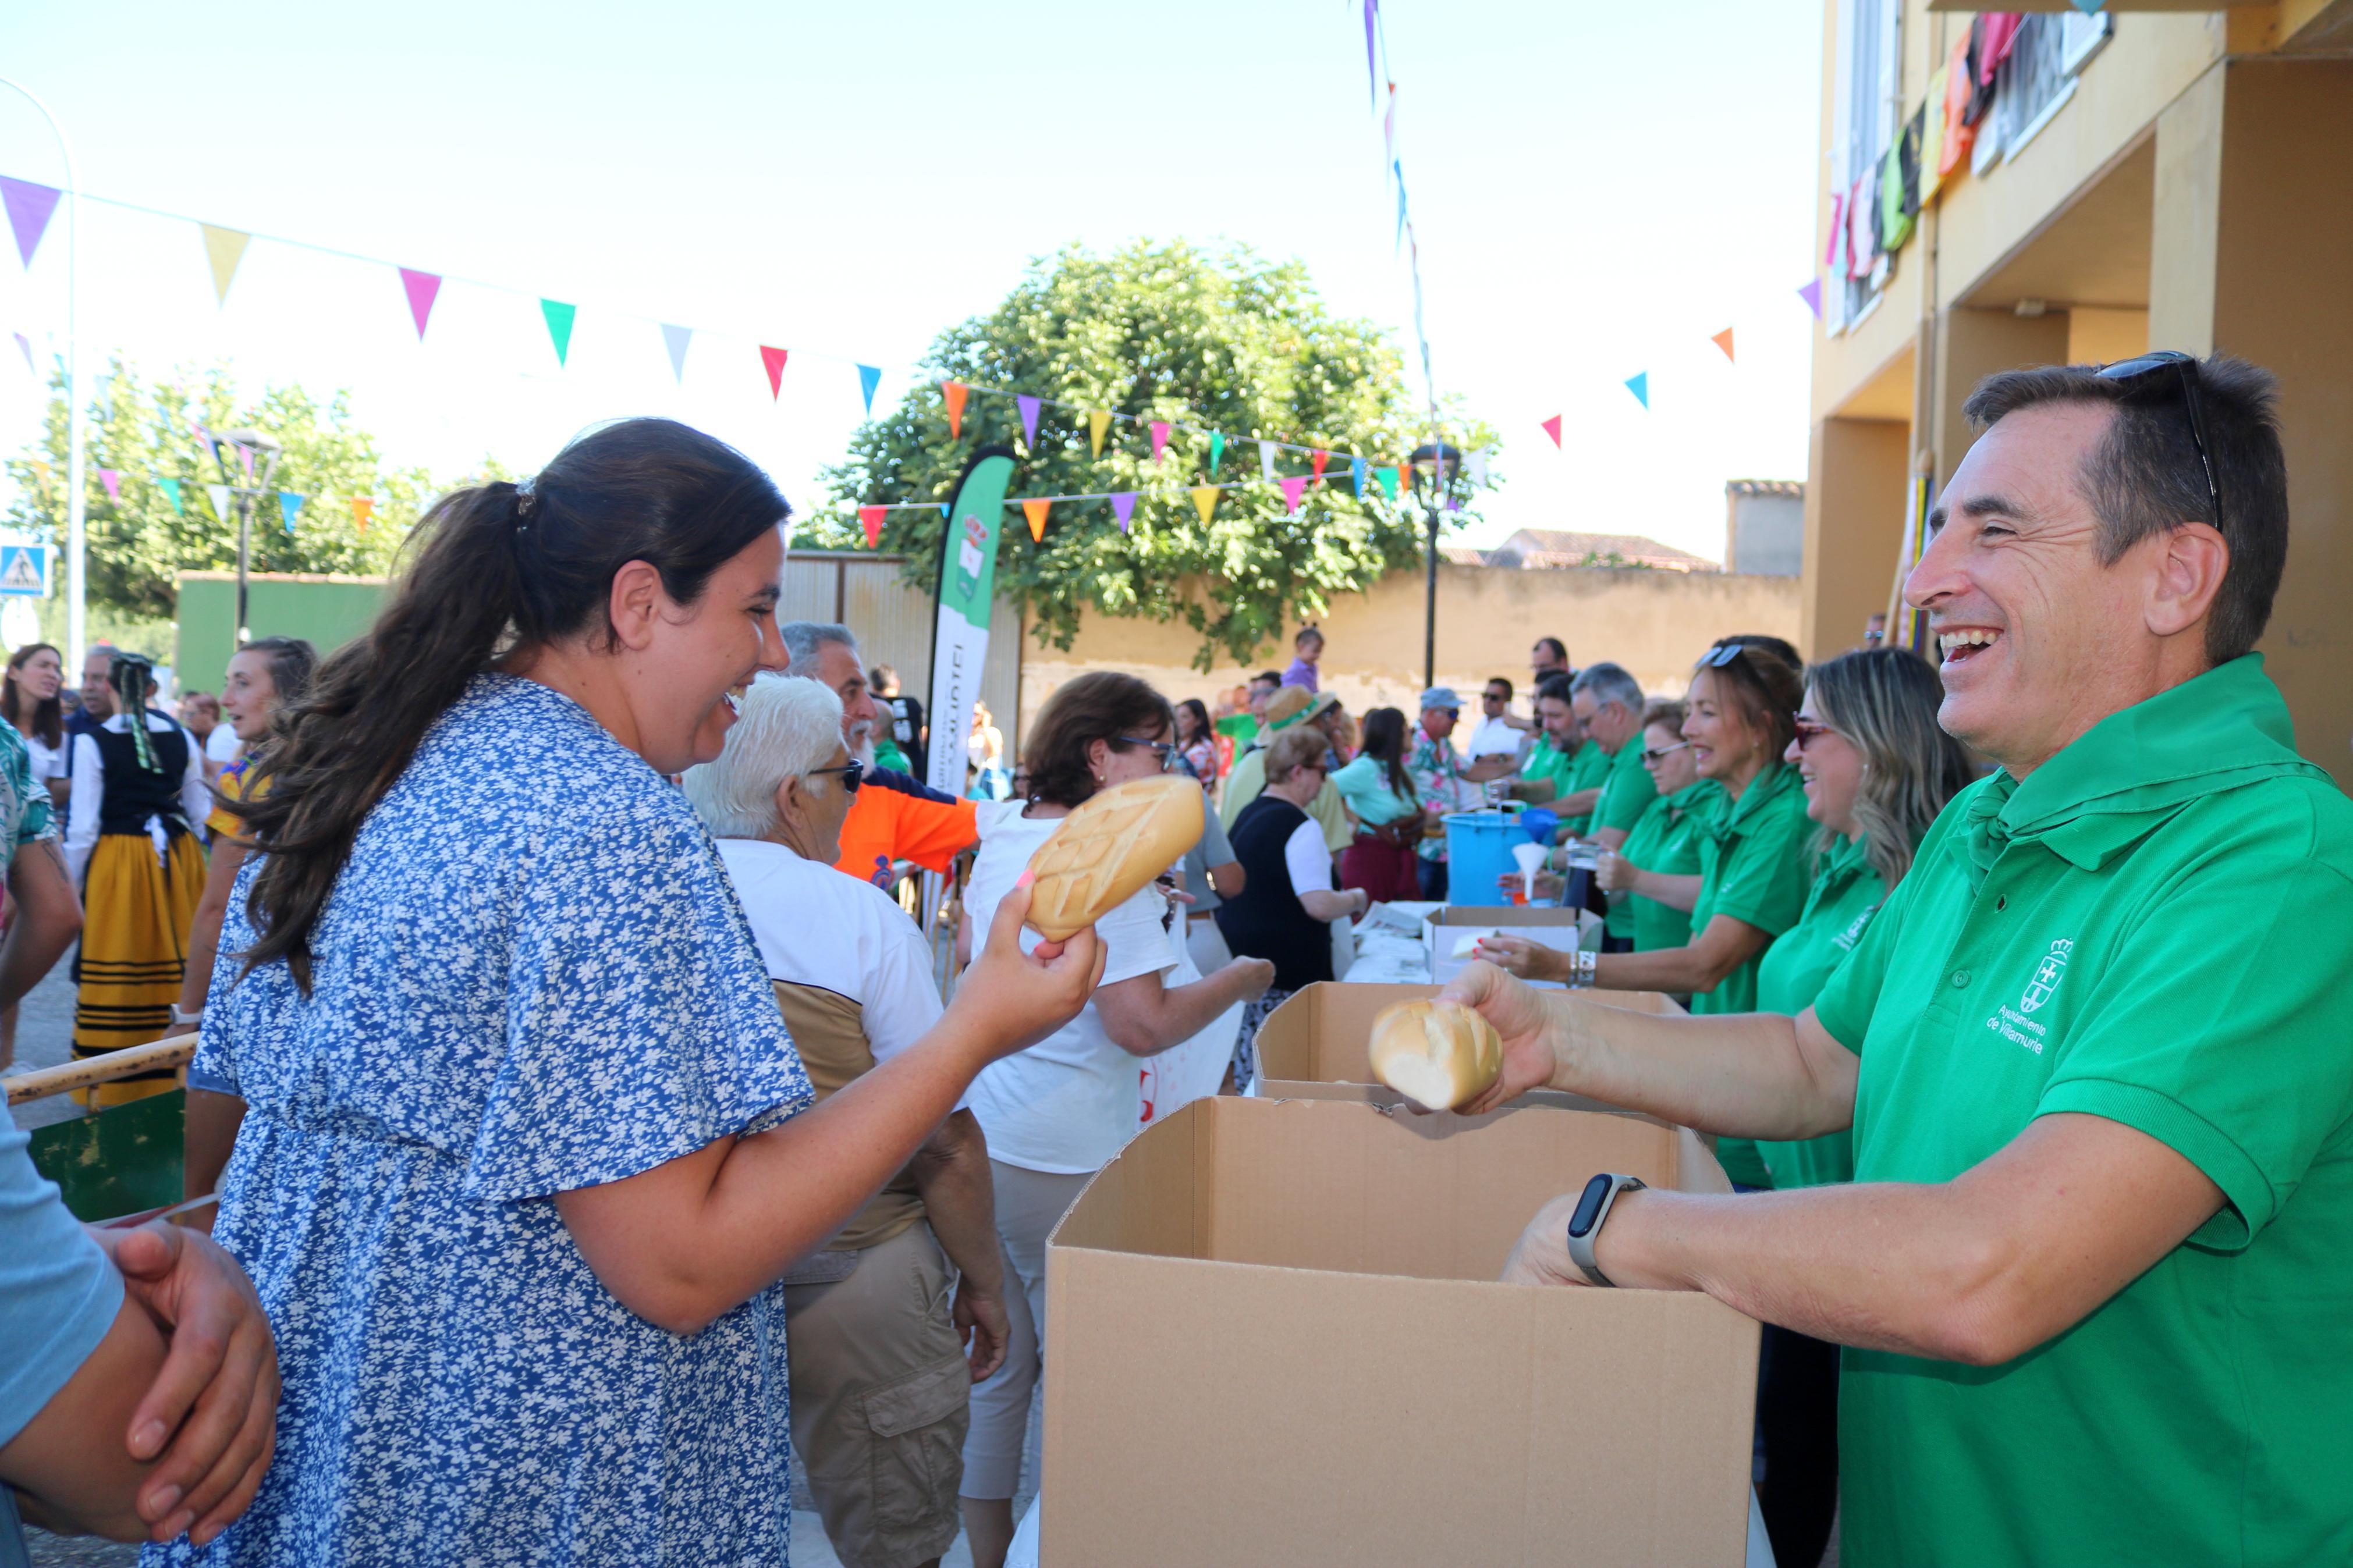
[[[795,1114],[664,780],[784,663],[784,512],[720,442],[609,425],[435,505],[289,710],[195,1065],[242,1100],[214,1234],[278,1331],[278,1460],[146,1563],[786,1561],[767,1286],[1078,1013],[1099,950],[1000,933],[922,1044]]]

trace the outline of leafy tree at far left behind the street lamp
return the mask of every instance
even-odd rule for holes
[[[242,400],[226,367],[144,383],[134,367],[115,360],[92,397],[87,425],[85,520],[94,609],[127,621],[162,621],[179,604],[181,571],[235,569],[238,515],[216,517],[205,487],[226,482],[252,489],[264,470],[256,461],[247,484],[238,454],[221,447],[214,458],[195,425],[214,433],[264,430],[285,444],[268,491],[249,496],[254,571],[386,574],[416,515],[447,489],[424,468],[388,468],[374,437],[353,425],[348,393],[320,404],[299,386],[273,386],[259,400]],[[113,496],[99,477],[101,468],[118,473]],[[42,437],[9,458],[9,473],[16,477],[14,529],[64,550],[64,376],[52,381]],[[494,468],[492,477],[499,477]],[[176,503],[162,480],[179,482]],[[304,498],[292,527],[278,491]],[[353,496],[374,503],[365,522],[351,505]]]

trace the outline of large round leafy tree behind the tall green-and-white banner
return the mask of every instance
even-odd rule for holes
[[[1054,505],[1042,541],[1007,508],[998,592],[1021,602],[1040,642],[1068,649],[1080,609],[1094,607],[1181,616],[1202,635],[1202,670],[1219,651],[1247,663],[1294,616],[1320,616],[1332,595],[1421,557],[1414,496],[1400,487],[1391,501],[1367,484],[1358,498],[1351,458],[1402,465],[1428,440],[1426,409],[1381,331],[1329,315],[1299,263],[1181,242],[1113,256],[1071,247],[1033,263],[993,313],[941,334],[929,364],[948,381],[1054,400],[1035,447],[1012,397],[974,390],[958,440],[941,388],[922,388],[864,425],[847,461],[826,470],[833,496],[805,538],[864,545],[861,503],[946,501],[972,449],[988,442],[1024,454],[1016,496],[1146,491],[1129,534],[1108,501]],[[1101,456],[1089,447],[1089,409],[1127,416],[1111,423]],[[1155,418],[1195,428],[1176,430],[1160,463],[1146,428]],[[1214,470],[1209,430],[1224,435]],[[1299,517],[1261,482],[1257,437],[1332,451]],[[1447,440],[1468,451],[1494,437],[1449,414]],[[1280,458],[1278,473],[1308,473],[1304,451]],[[1193,484],[1226,487],[1207,524],[1184,489]],[[929,583],[941,531],[932,508],[894,510],[880,548],[906,552],[908,578]]]

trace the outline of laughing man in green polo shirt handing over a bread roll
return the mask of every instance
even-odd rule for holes
[[[1659,1020],[1473,964],[1504,1084],[1854,1182],[1626,1192],[1527,1281],[1704,1288],[1847,1345],[1849,1568],[2353,1561],[2353,802],[2252,654],[2271,376],[2007,371],[1906,583],[1960,792],[1814,1006]]]

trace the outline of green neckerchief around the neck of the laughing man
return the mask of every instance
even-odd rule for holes
[[[2111,712],[2019,783],[2007,771],[1969,792],[1969,886],[2014,842],[2035,842],[2082,870],[2146,835],[2181,804],[2264,778],[2327,773],[2297,755],[2287,698],[2245,654],[2169,691]]]

